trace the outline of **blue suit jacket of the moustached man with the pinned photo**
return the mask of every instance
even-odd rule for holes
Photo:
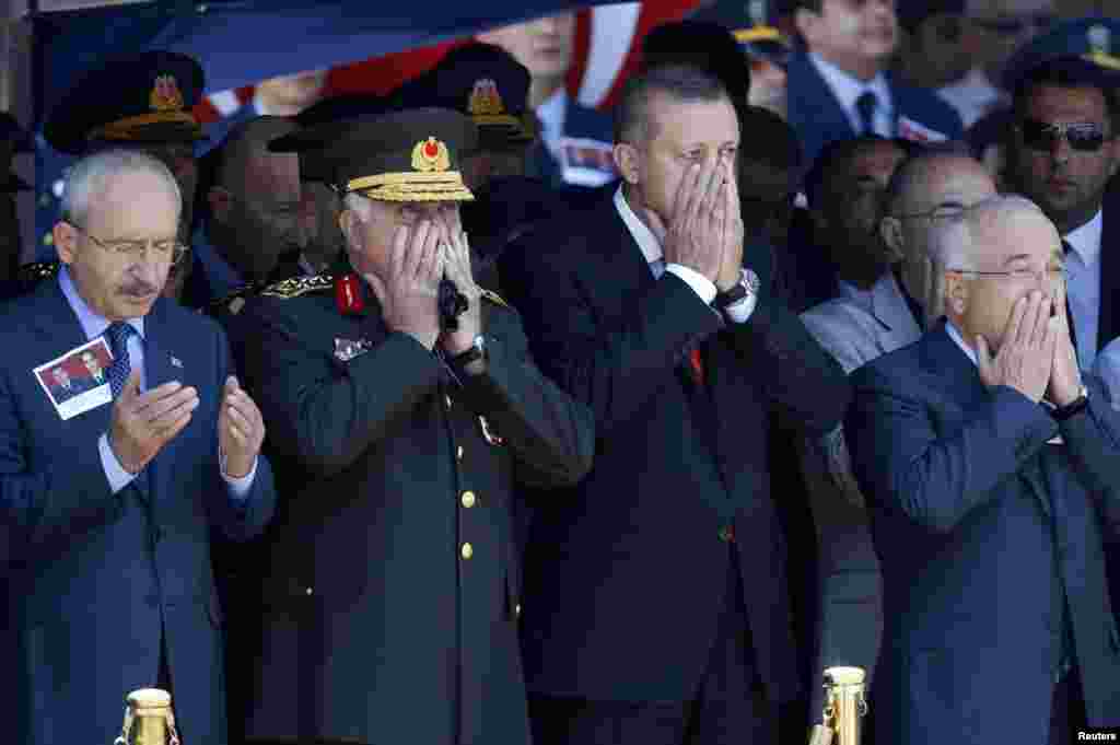
[[[199,406],[149,477],[114,495],[97,451],[111,407],[64,422],[30,373],[86,342],[57,281],[2,310],[0,495],[22,646],[20,742],[111,742],[124,696],[156,682],[162,633],[178,720],[190,742],[225,743],[211,530],[259,532],[272,514],[272,475],[262,457],[240,505],[221,478],[217,416],[230,363],[217,325],[159,299],[144,333],[148,385],[194,385]]]

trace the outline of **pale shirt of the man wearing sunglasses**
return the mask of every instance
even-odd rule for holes
[[[1093,366],[1096,357],[1096,332],[1101,320],[1101,234],[1104,215],[1098,211],[1088,223],[1065,236],[1073,249],[1065,258],[1070,272],[1070,310],[1077,337],[1077,364]]]

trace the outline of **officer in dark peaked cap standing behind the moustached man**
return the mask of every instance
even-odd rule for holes
[[[183,195],[179,241],[189,244],[198,183],[195,142],[205,139],[192,113],[205,89],[202,65],[177,52],[140,52],[110,58],[78,78],[47,117],[43,136],[72,156],[105,148],[136,148],[160,160]],[[58,273],[58,261],[21,267],[19,291]],[[179,261],[164,295],[178,299],[192,262]]]

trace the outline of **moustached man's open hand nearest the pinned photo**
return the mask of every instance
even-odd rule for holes
[[[190,422],[197,407],[198,391],[177,382],[140,393],[140,371],[133,370],[113,402],[109,425],[109,446],[121,467],[140,473]]]

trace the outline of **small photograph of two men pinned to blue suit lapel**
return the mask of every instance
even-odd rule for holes
[[[113,400],[109,367],[113,353],[104,336],[76,346],[35,367],[38,381],[58,417],[66,421]]]

